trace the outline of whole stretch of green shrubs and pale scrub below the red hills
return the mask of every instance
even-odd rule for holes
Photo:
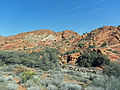
[[[78,66],[60,67],[55,49],[26,54],[0,51],[0,90],[119,90],[120,64],[96,52],[83,53]],[[104,66],[103,70],[95,67]],[[86,68],[87,67],[87,68]]]

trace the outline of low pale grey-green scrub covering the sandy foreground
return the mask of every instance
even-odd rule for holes
[[[0,68],[0,89],[17,90],[18,83],[26,86],[27,90],[119,90],[120,78],[96,73],[56,70],[43,71],[38,68],[33,70],[21,65],[9,65]],[[16,71],[17,69],[17,71]],[[18,69],[22,69],[23,73]],[[85,69],[85,68],[83,68]],[[86,68],[87,69],[87,68]],[[88,68],[90,70],[90,68]],[[92,70],[92,68],[91,68]],[[7,75],[5,77],[4,75]],[[26,79],[21,76],[25,76]],[[15,82],[14,79],[20,80]],[[25,80],[25,81],[23,81]],[[13,87],[14,86],[14,87]]]

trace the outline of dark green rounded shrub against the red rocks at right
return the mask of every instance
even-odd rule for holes
[[[77,60],[80,67],[96,67],[109,64],[110,60],[103,54],[97,54],[96,52],[83,53]]]

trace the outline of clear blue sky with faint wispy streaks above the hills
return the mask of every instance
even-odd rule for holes
[[[80,35],[120,25],[120,0],[0,0],[0,35],[39,29]]]

